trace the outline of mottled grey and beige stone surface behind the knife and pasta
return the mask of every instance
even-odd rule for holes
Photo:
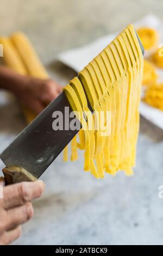
[[[65,84],[75,73],[55,57],[98,36],[116,31],[147,13],[162,17],[162,0],[5,0],[0,31],[21,30],[32,40],[49,73]],[[0,150],[25,123],[20,108],[1,92]],[[60,155],[42,176],[43,197],[34,202],[35,216],[23,225],[15,245],[163,244],[163,131],[141,118],[135,175],[123,173],[95,180],[83,172],[83,156],[62,162]],[[0,167],[3,163],[0,162]]]

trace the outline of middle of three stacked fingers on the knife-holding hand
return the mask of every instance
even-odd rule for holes
[[[17,208],[7,211],[5,219],[5,230],[12,229],[17,225],[23,224],[30,220],[34,215],[34,210],[31,202],[28,202]]]

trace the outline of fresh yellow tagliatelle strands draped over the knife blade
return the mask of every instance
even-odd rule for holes
[[[115,175],[118,170],[133,174],[142,75],[141,47],[130,25],[64,89],[73,111],[84,117],[80,121],[79,142],[75,139],[73,147],[85,150],[84,169],[90,170],[96,178],[103,178],[105,172]],[[95,121],[101,112],[104,113],[104,126],[97,129]],[[93,124],[91,129],[90,123]],[[72,160],[77,158],[73,154],[72,151]]]

